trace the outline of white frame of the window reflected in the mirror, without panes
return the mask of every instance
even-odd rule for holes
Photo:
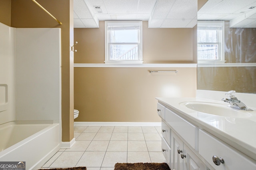
[[[218,44],[219,48],[218,48],[218,60],[200,60],[197,59],[198,63],[202,63],[202,64],[208,64],[208,63],[225,63],[225,22],[224,21],[198,21],[197,26],[221,26],[220,32],[217,32],[217,42],[206,42],[206,43],[198,43],[197,41],[197,45],[202,45],[202,44],[206,44],[206,45],[211,45],[211,44]]]

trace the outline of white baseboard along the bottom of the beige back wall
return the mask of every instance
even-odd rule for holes
[[[74,122],[75,126],[161,126],[161,122]]]

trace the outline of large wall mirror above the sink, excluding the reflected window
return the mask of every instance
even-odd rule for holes
[[[235,90],[255,94],[255,0],[208,0],[198,10],[198,21],[208,20],[224,21],[224,60],[204,60],[206,62],[201,64],[198,57],[198,90]]]

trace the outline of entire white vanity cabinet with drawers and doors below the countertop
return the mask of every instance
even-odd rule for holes
[[[162,148],[171,170],[256,170],[256,160],[240,152],[239,146],[230,146],[235,141],[229,143],[222,141],[221,136],[215,137],[207,131],[212,125],[190,119],[190,115],[175,106],[175,109],[171,103],[158,106],[164,108]]]

